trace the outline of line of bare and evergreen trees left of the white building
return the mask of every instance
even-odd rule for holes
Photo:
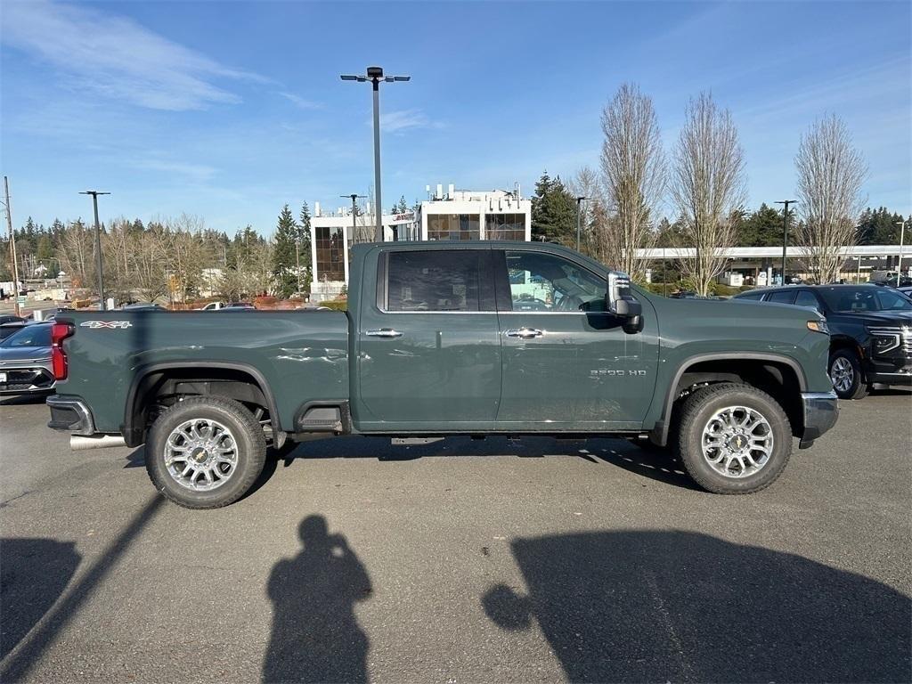
[[[81,218],[45,227],[29,217],[14,239],[20,280],[63,272],[75,288],[97,290],[95,229]],[[12,254],[8,237],[0,246]],[[201,292],[233,301],[287,298],[309,290],[310,249],[306,202],[297,217],[287,204],[282,208],[271,238],[251,225],[229,236],[188,214],[149,223],[121,217],[101,226],[105,292],[119,302],[184,302]],[[10,259],[0,262],[0,281],[12,280],[11,266]]]

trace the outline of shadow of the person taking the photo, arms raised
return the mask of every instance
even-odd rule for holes
[[[263,663],[264,682],[368,680],[368,637],[355,603],[370,596],[370,578],[326,518],[306,517],[298,528],[304,550],[275,564],[268,594],[273,630]]]

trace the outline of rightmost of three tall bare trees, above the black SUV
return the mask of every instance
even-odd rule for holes
[[[835,115],[814,122],[795,156],[798,237],[819,283],[832,283],[845,261],[841,247],[855,243],[855,225],[867,177],[864,157],[852,145],[845,123]]]

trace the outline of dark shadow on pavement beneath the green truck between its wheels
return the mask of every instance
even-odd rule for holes
[[[510,440],[495,436],[473,440],[471,437],[448,437],[430,444],[392,446],[389,439],[383,438],[337,437],[298,444],[295,449],[285,453],[282,460],[285,467],[288,467],[298,459],[369,458],[379,461],[411,461],[441,456],[501,455],[521,458],[575,456],[594,465],[610,463],[650,480],[702,491],[685,474],[680,463],[672,459],[670,453],[644,451],[627,440],[607,438],[555,440],[552,437],[531,436],[523,437],[522,440]]]

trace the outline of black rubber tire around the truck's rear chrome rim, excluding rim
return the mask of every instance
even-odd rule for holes
[[[223,484],[208,491],[194,491],[177,482],[165,465],[165,449],[173,430],[188,420],[216,420],[231,431],[236,463]],[[263,429],[238,401],[223,397],[189,397],[174,404],[152,424],[146,440],[146,472],[155,489],[184,508],[220,508],[247,492],[263,471],[266,440]]]

